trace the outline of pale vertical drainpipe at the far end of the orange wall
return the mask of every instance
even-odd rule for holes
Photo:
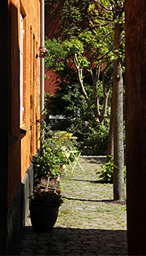
[[[45,2],[41,0],[41,47],[44,47],[45,43]],[[41,150],[43,146],[43,137],[44,137],[44,93],[45,93],[45,64],[44,58],[41,59]]]

